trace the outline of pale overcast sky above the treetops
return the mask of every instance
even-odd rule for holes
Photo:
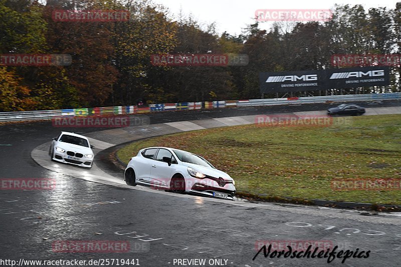
[[[386,7],[394,9],[394,0],[153,0],[170,10],[176,16],[180,10],[186,16],[199,22],[202,26],[216,22],[218,33],[241,34],[242,28],[254,23],[252,18],[258,9],[319,9],[333,8],[335,4],[362,5],[369,8]],[[176,18],[176,17],[174,17]],[[262,29],[270,29],[272,22],[262,23]]]

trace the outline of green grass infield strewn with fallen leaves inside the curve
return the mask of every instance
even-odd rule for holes
[[[117,153],[127,163],[144,147],[187,150],[229,173],[238,191],[252,194],[401,204],[400,190],[331,189],[333,178],[401,178],[401,115],[347,119],[351,123],[330,127],[197,130],[134,142]]]

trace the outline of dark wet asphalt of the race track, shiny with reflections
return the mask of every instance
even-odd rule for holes
[[[365,107],[400,106],[400,101],[359,102]],[[145,114],[150,123],[325,110],[329,104],[224,108]],[[141,116],[141,115],[137,115]],[[353,210],[278,203],[220,203],[88,182],[42,168],[31,151],[61,130],[85,134],[101,128],[59,128],[51,122],[0,126],[0,178],[51,178],[51,190],[0,190],[0,266],[36,266],[24,260],[86,260],[83,266],[396,266],[401,255],[401,217]],[[106,158],[110,173],[122,172]],[[57,242],[117,241],[128,251],[60,252]],[[259,240],[259,241],[258,241]],[[257,253],[262,241],[298,240],[338,245],[338,250],[370,250],[368,258],[277,258]],[[281,241],[280,241],[281,240]],[[53,245],[53,246],[52,246]],[[109,259],[107,264],[106,259]],[[111,260],[114,259],[113,264]],[[116,259],[120,261],[116,262]],[[121,261],[124,259],[124,262]],[[129,262],[127,262],[129,259]],[[134,259],[134,261],[132,261]],[[185,259],[185,260],[183,260]],[[195,264],[193,259],[205,259]],[[3,260],[3,261],[2,261]],[[92,260],[92,264],[88,261]],[[186,261],[187,260],[187,261]],[[55,262],[54,262],[55,263]],[[99,262],[98,262],[99,263]],[[128,264],[129,263],[129,264]],[[178,264],[180,263],[180,264]],[[212,264],[211,264],[212,263]],[[77,266],[78,266],[77,265]],[[102,264],[98,264],[102,265]],[[54,264],[67,266],[67,264]]]

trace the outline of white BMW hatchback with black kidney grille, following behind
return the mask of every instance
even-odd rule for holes
[[[94,146],[89,144],[88,138],[83,135],[61,132],[53,137],[49,155],[52,160],[91,168],[93,163]]]

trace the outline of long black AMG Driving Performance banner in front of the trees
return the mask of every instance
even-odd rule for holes
[[[261,72],[262,93],[341,89],[389,84],[388,67],[363,67],[293,72]]]

